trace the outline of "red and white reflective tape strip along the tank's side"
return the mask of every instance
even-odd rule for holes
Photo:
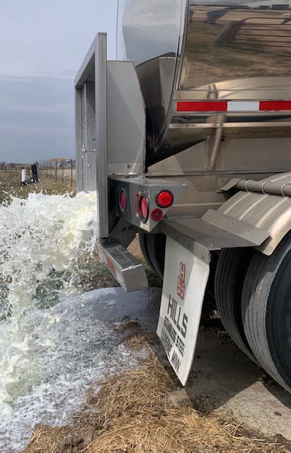
[[[283,112],[291,101],[177,101],[176,112]]]

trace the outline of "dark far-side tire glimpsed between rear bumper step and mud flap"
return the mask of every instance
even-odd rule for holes
[[[161,277],[164,276],[166,235],[139,233],[139,244],[147,263]]]

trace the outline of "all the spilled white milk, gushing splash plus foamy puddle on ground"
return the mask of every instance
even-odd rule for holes
[[[110,329],[74,295],[95,222],[93,193],[0,206],[1,452],[19,452],[35,423],[65,423],[89,384],[116,366]],[[128,360],[125,350],[118,357]]]

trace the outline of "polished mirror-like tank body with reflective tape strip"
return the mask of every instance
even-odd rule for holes
[[[291,134],[290,8],[291,0],[119,1],[118,58],[137,67],[149,161],[214,130]]]

